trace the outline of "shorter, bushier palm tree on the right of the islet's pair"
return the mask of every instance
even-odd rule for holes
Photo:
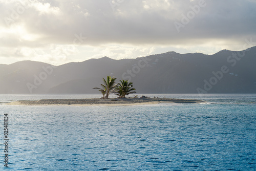
[[[115,90],[115,94],[119,96],[119,98],[125,98],[126,95],[136,93],[133,88],[133,82],[129,82],[128,80],[120,80],[121,83],[117,84],[117,88]]]

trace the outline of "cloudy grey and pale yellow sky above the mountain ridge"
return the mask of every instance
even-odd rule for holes
[[[244,50],[256,46],[255,9],[256,0],[0,0],[0,63]]]

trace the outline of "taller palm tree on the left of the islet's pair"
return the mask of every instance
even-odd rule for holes
[[[99,89],[99,91],[103,95],[103,98],[109,98],[109,95],[114,92],[114,90],[117,86],[117,84],[115,84],[116,78],[114,78],[114,77],[111,78],[111,76],[108,76],[106,78],[106,80],[104,78],[102,78],[102,79],[104,82],[103,84],[100,84],[102,89],[100,89],[100,88],[93,88],[93,89]]]

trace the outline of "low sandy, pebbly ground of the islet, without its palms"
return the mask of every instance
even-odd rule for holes
[[[142,105],[159,103],[200,103],[205,102],[195,99],[170,99],[170,98],[93,98],[93,99],[41,99],[41,100],[20,100],[6,103],[7,105]]]

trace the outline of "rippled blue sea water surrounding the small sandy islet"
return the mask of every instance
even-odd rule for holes
[[[0,95],[0,120],[9,119],[9,167],[1,143],[0,170],[256,170],[256,94],[147,96],[207,102],[9,106],[100,95]]]

